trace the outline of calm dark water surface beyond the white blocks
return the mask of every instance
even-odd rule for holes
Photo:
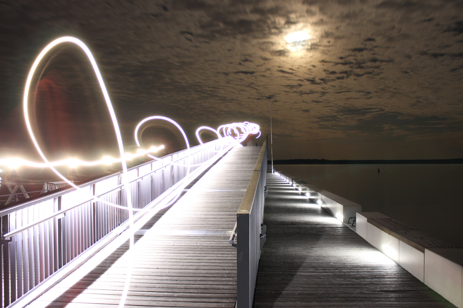
[[[463,247],[462,164],[274,165],[445,242]],[[378,174],[378,168],[380,173]]]

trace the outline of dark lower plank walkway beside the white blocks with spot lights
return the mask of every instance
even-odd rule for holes
[[[455,307],[268,174],[254,307]]]

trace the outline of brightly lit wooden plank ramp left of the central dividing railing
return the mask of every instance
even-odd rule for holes
[[[232,149],[137,232],[133,248],[125,243],[78,282],[57,284],[31,306],[117,307],[130,275],[124,307],[233,308],[236,248],[228,238],[259,152]]]

